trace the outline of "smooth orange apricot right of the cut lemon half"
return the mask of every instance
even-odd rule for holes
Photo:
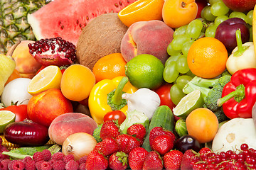
[[[82,64],[73,64],[63,72],[60,90],[65,98],[71,101],[82,101],[88,98],[94,85],[95,75],[92,71]]]

